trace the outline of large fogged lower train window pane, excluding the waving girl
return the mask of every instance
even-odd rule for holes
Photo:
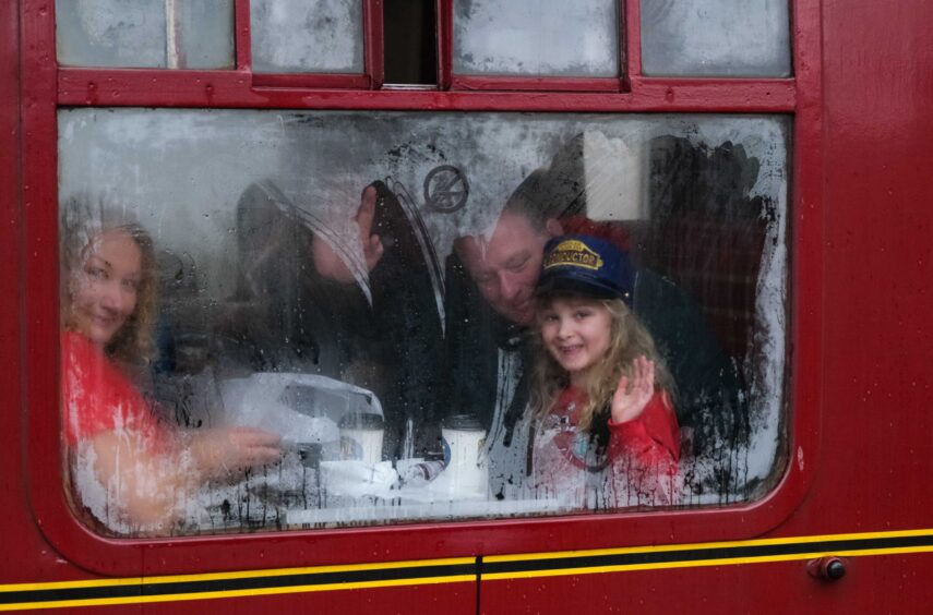
[[[790,130],[60,110],[75,514],[165,535],[762,497],[786,458]],[[537,395],[570,390],[533,370],[554,222],[631,260],[625,310],[669,375],[659,461]]]

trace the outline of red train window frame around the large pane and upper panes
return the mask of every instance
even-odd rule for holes
[[[441,89],[348,89],[333,75],[272,85],[249,68],[248,0],[237,0],[237,68],[226,71],[77,69],[55,61],[53,3],[22,0],[22,256],[20,305],[25,396],[21,432],[28,496],[50,543],[73,562],[108,575],[168,575],[254,566],[295,567],[590,550],[643,544],[742,540],[775,529],[800,504],[818,459],[821,422],[822,266],[821,14],[818,0],[791,0],[791,79],[669,79],[641,74],[638,0],[624,0],[626,75],[618,92],[445,89],[451,29],[440,28]],[[370,45],[380,0],[367,0]],[[439,1],[441,21],[450,2]],[[373,12],[375,11],[375,12]],[[446,12],[445,12],[446,11]],[[244,26],[246,24],[246,26]],[[367,52],[368,67],[381,65]],[[370,73],[370,87],[381,82]],[[313,77],[313,79],[312,79]],[[518,87],[510,80],[500,85]],[[511,85],[510,85],[511,84]],[[480,84],[482,85],[482,84]],[[528,85],[528,84],[525,84]],[[479,87],[479,86],[478,86]],[[482,89],[482,88],[480,88]],[[553,89],[555,92],[543,92]],[[493,519],[364,529],[287,531],[181,539],[107,539],[94,534],[65,502],[59,411],[58,167],[59,107],[191,107],[258,109],[589,111],[784,113],[793,117],[789,167],[788,460],[762,499],[728,507],[618,512],[545,519]],[[782,530],[781,530],[782,531]],[[790,530],[788,530],[790,531]],[[780,533],[780,531],[778,532]]]

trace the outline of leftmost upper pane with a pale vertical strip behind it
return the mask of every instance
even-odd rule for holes
[[[58,61],[73,67],[226,69],[232,0],[56,0]]]

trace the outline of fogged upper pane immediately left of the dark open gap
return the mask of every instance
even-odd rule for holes
[[[253,70],[362,73],[358,0],[250,0]]]

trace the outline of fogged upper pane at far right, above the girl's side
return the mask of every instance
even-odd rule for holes
[[[789,76],[788,4],[787,0],[643,0],[642,72]]]

